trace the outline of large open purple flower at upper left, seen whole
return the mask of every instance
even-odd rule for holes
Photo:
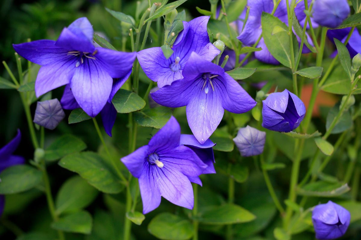
[[[65,27],[57,41],[38,40],[13,47],[27,60],[42,65],[35,81],[37,97],[70,84],[78,104],[91,117],[109,99],[113,78],[129,73],[136,56],[95,47],[93,27],[85,17]]]

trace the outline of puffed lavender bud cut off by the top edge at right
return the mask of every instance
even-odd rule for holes
[[[315,0],[312,8],[313,20],[321,26],[335,28],[350,14],[347,0]]]

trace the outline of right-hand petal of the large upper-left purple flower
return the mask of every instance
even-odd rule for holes
[[[101,62],[110,77],[122,78],[131,71],[136,53],[125,53],[97,47],[94,57]]]

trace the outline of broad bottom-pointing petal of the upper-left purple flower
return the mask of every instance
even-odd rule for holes
[[[70,87],[80,107],[89,116],[95,117],[109,99],[113,78],[97,60],[85,59],[75,68]]]

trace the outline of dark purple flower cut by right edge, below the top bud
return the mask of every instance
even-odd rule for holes
[[[348,36],[348,33],[350,32],[351,27],[347,27],[347,28],[341,28],[341,29],[330,29],[327,31],[327,37],[331,40],[334,41],[335,39],[340,40],[341,42],[345,42]],[[347,49],[348,52],[350,53],[351,58],[353,58],[356,54],[361,53],[361,36],[360,33],[358,32],[357,28],[355,28],[351,34],[350,39],[347,42]],[[337,50],[331,54],[331,57],[335,57],[337,54]]]

